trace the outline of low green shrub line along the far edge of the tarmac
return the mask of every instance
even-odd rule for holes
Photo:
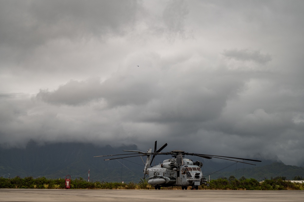
[[[300,176],[299,176],[300,177]],[[296,176],[294,179],[299,179]],[[301,177],[301,180],[303,178]],[[65,179],[47,179],[45,177],[34,178],[32,176],[20,178],[0,177],[0,188],[15,189],[64,189]],[[208,185],[208,186],[207,186]],[[190,187],[191,188],[191,187]],[[154,189],[148,184],[147,179],[141,179],[139,183],[120,182],[88,182],[83,178],[71,179],[71,189]],[[181,189],[181,187],[162,187],[162,189]],[[217,180],[211,180],[208,184],[199,186],[201,190],[304,190],[304,183],[286,181],[286,177],[265,179],[262,182],[250,178],[240,179],[230,176]]]

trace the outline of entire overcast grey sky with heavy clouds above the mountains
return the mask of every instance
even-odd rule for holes
[[[304,1],[0,1],[0,145],[168,143],[304,166]]]

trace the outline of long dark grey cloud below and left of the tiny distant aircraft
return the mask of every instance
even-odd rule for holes
[[[109,107],[138,105],[154,98],[158,91],[154,82],[132,75],[115,75],[102,83],[99,78],[71,80],[55,91],[40,90],[36,97],[50,104],[79,105],[105,99]]]

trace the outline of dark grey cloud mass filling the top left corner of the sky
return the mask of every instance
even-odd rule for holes
[[[136,22],[136,1],[9,1],[0,3],[0,53],[23,61],[36,48],[58,39],[100,40],[122,35]]]

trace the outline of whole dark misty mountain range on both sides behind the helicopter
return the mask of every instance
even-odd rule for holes
[[[112,146],[96,146],[89,143],[52,143],[43,146],[29,142],[26,148],[0,148],[0,176],[13,178],[15,176],[65,178],[71,175],[72,179],[88,179],[90,181],[105,182],[135,182],[143,178],[143,160],[140,157],[104,161],[103,158],[93,158],[99,155],[121,154],[122,150],[139,150],[136,145],[113,148]],[[162,156],[162,155],[161,155]],[[171,156],[167,156],[171,158]],[[270,179],[271,177],[285,176],[292,180],[295,176],[304,176],[304,168],[288,166],[282,162],[262,160],[256,166],[247,166],[243,163],[227,163],[192,157],[193,160],[202,161],[203,174],[206,178],[219,177],[236,178],[244,176],[257,180]],[[156,164],[164,159],[155,158]],[[226,169],[223,169],[226,168]],[[220,170],[220,171],[219,171]]]

